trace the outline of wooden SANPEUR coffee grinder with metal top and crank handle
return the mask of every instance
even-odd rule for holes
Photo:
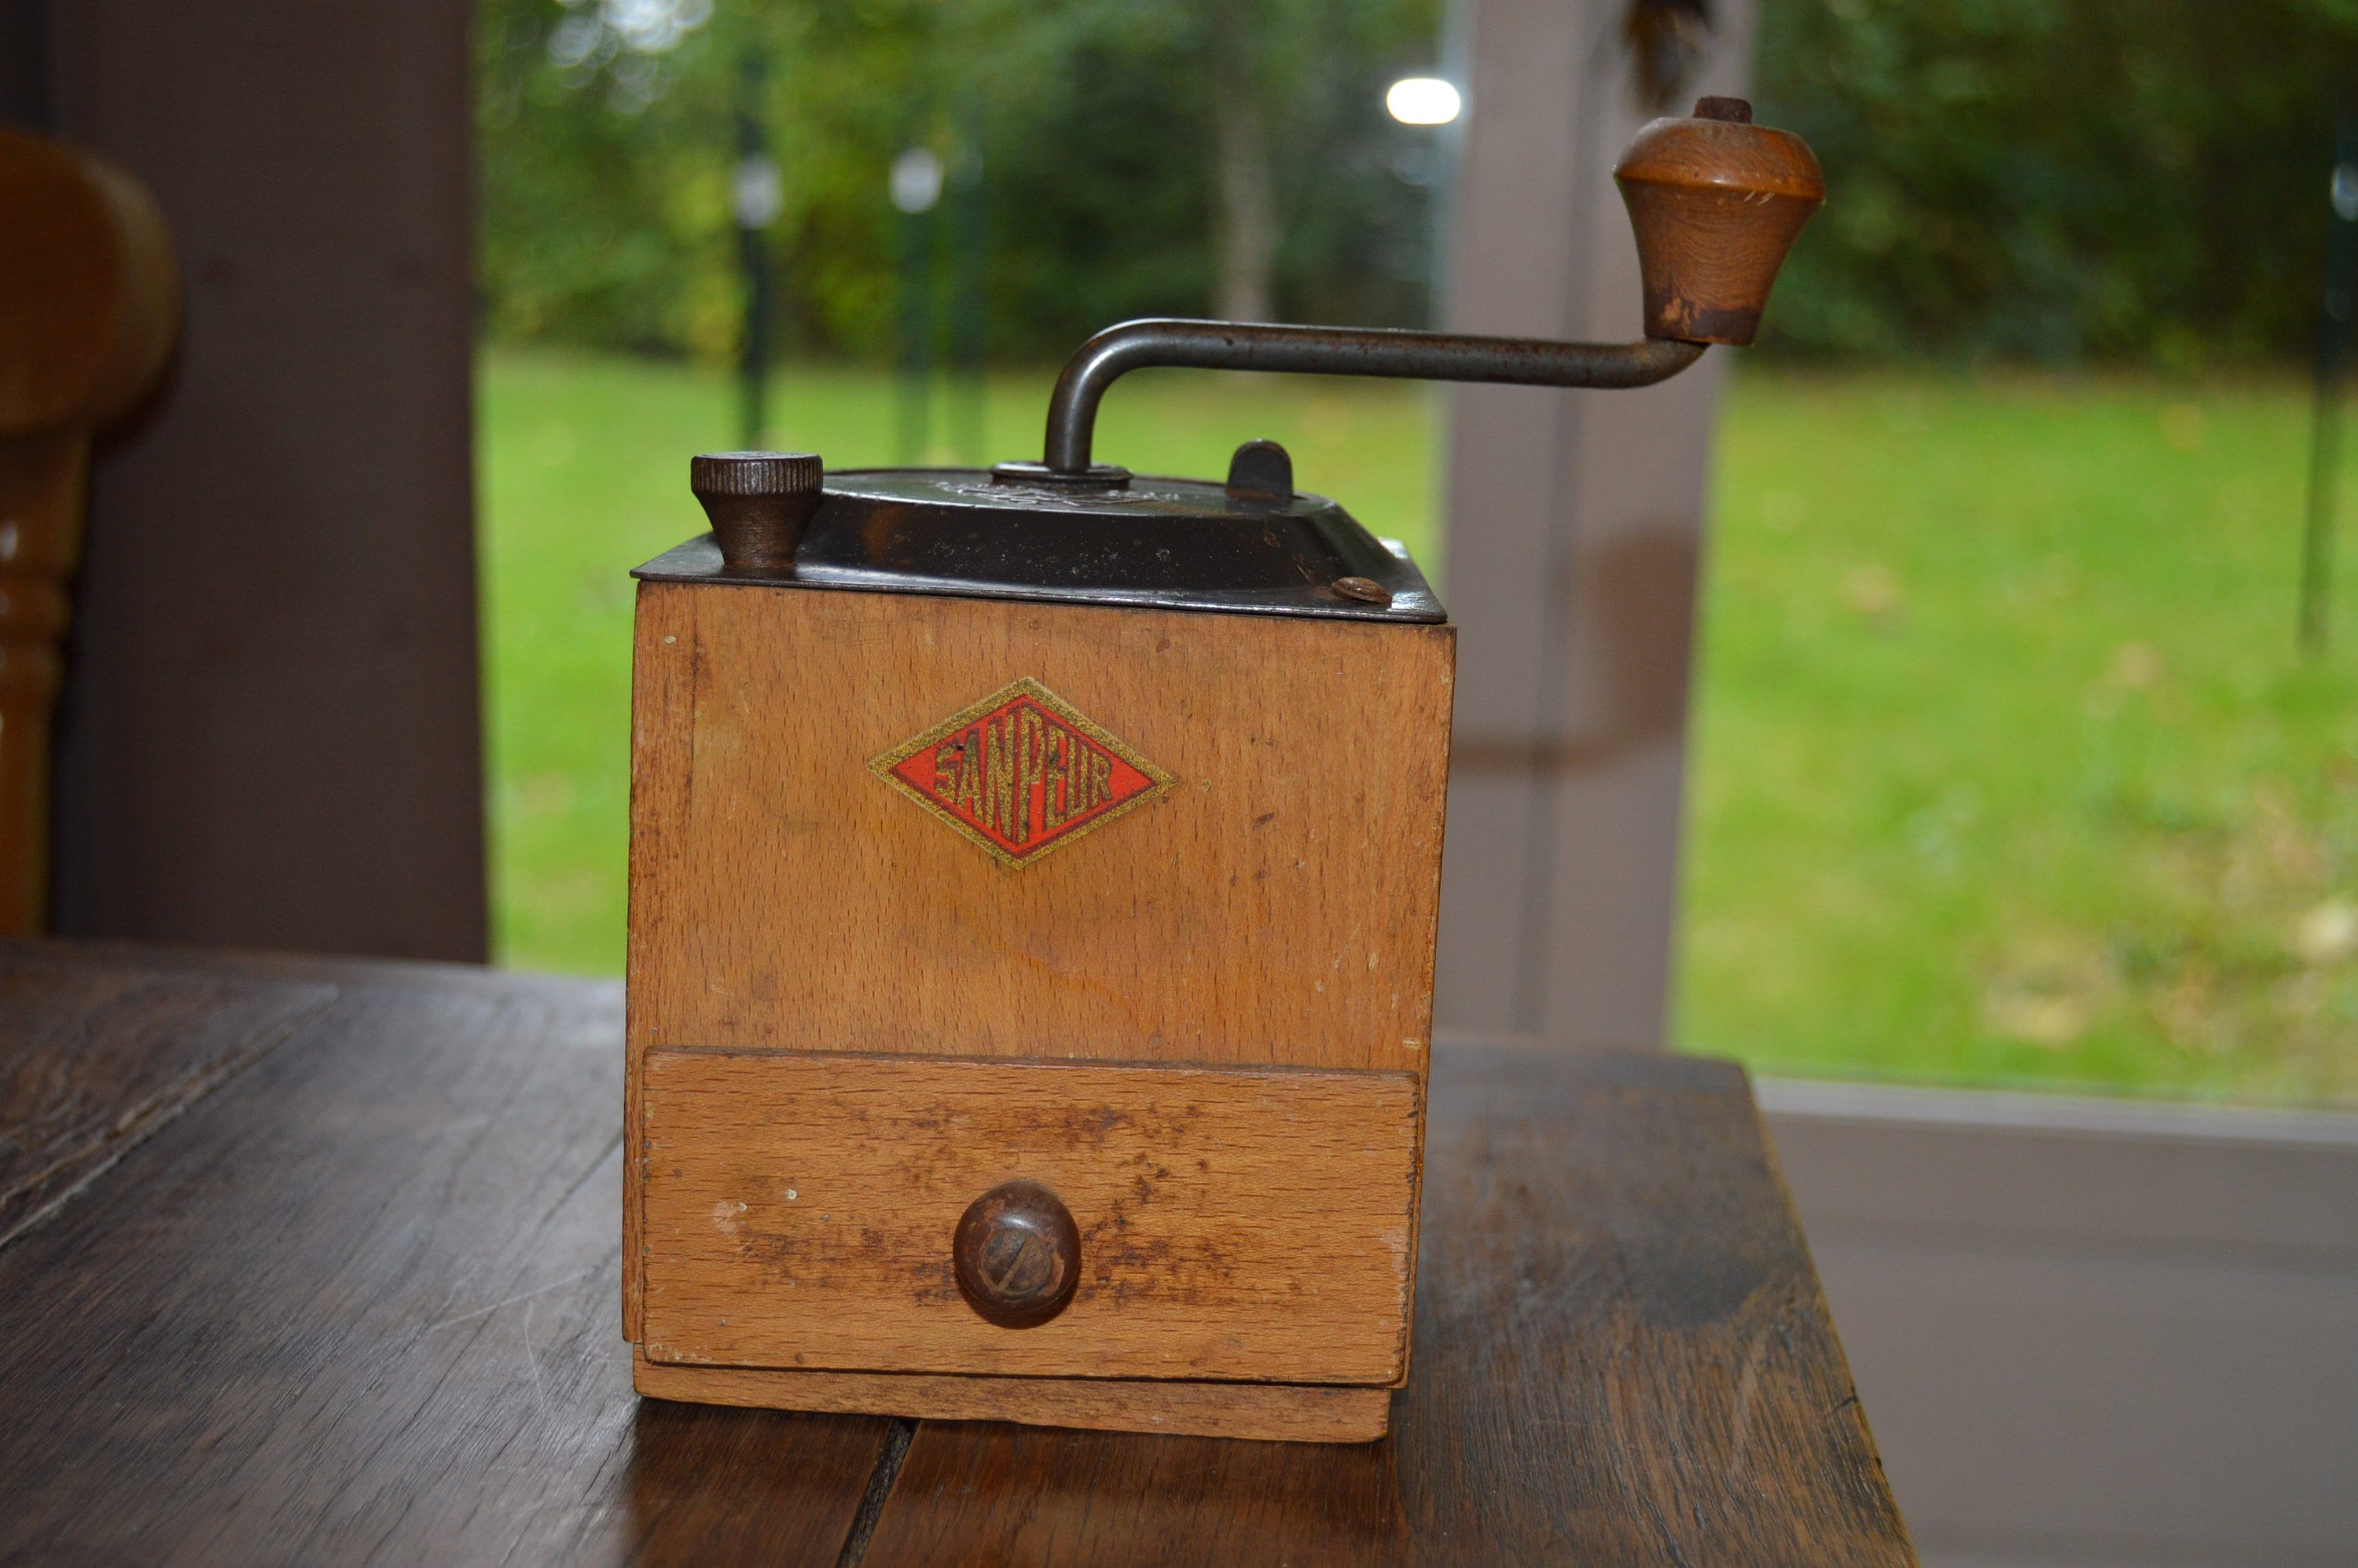
[[[1092,422],[1146,363],[1639,387],[1747,342],[1818,172],[1702,108],[1620,167],[1641,342],[1144,321],[1042,462],[693,462],[712,535],[637,573],[641,1394],[1387,1431],[1455,627],[1273,443],[1146,479]]]

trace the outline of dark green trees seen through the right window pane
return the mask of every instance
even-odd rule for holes
[[[2306,354],[2358,0],[1766,0],[1761,21],[1761,118],[1832,186],[1766,342]]]

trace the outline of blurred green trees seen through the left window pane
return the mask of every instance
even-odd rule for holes
[[[1238,299],[1412,323],[1427,196],[1382,90],[1436,31],[1438,0],[481,0],[486,328],[731,351],[750,40],[806,351],[891,351],[887,170],[910,144],[981,163],[995,356]]]

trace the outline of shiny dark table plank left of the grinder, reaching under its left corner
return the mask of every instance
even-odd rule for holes
[[[222,962],[146,995],[205,983],[205,1037],[332,995],[0,1247],[0,1559],[837,1561],[891,1422],[632,1396],[620,988]]]

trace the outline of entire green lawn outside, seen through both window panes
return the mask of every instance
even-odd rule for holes
[[[993,380],[990,455],[1038,453],[1047,380]],[[623,573],[703,528],[684,457],[731,424],[707,373],[483,363],[507,964],[620,969]],[[2358,679],[2351,653],[2292,653],[2306,429],[2290,382],[1740,377],[1681,1045],[1790,1073],[2358,1099]],[[1245,436],[1434,561],[1415,387],[1148,373],[1108,398],[1099,450],[1217,476]],[[771,439],[891,462],[891,382],[795,370]]]

